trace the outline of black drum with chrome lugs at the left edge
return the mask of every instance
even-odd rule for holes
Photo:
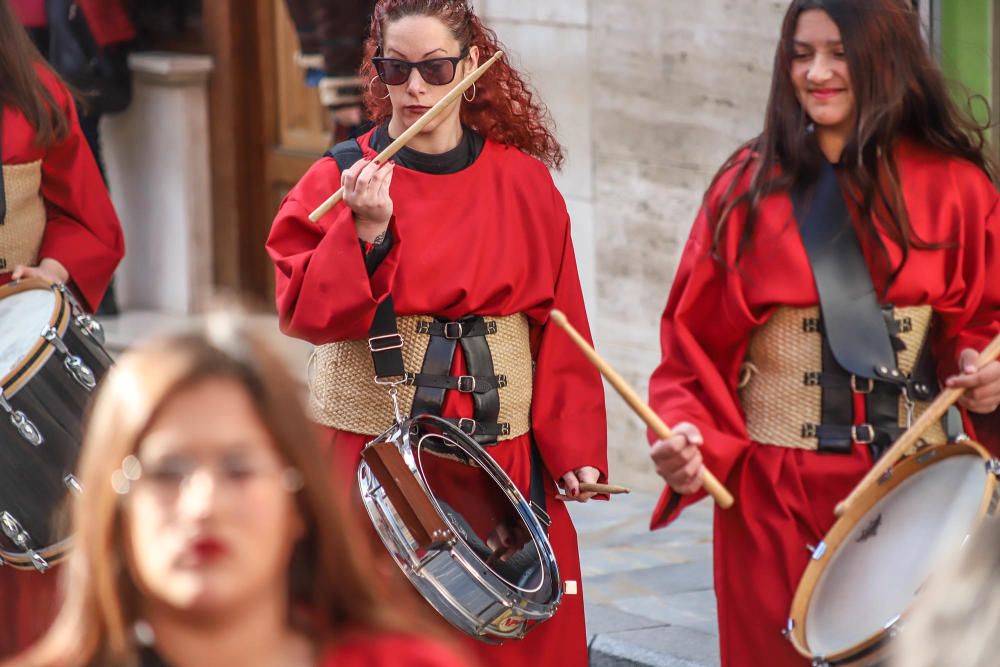
[[[61,285],[0,287],[0,560],[44,572],[69,546],[81,422],[111,365],[100,324]]]

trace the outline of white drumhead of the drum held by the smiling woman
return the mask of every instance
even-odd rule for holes
[[[917,473],[876,502],[830,556],[805,618],[813,655],[842,653],[890,627],[975,528],[987,488],[975,450]]]

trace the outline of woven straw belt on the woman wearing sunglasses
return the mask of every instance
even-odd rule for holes
[[[510,424],[508,440],[524,435],[531,427],[531,347],[528,318],[523,314],[485,317],[496,322],[496,333],[486,336],[496,375],[507,376],[500,393],[500,423]],[[424,364],[429,335],[421,323],[433,322],[429,315],[404,315],[396,324],[403,337],[403,368],[419,373]],[[321,345],[310,359],[310,407],[320,424],[341,431],[379,435],[392,423],[392,400],[387,387],[375,383],[375,366],[367,340],[347,340]],[[409,415],[416,387],[399,386],[400,410]]]

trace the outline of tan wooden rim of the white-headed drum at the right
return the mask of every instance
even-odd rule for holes
[[[927,457],[926,455],[931,452],[934,452],[934,456]],[[821,544],[825,545],[824,554],[830,554],[832,556],[832,554],[842,546],[844,539],[850,535],[852,530],[868,515],[871,508],[880,500],[888,496],[890,492],[895,490],[904,481],[941,461],[954,456],[969,453],[977,454],[982,459],[984,464],[993,459],[990,453],[981,444],[971,439],[965,439],[959,442],[949,442],[941,445],[924,447],[914,454],[909,455],[897,462],[891,468],[891,476],[884,483],[873,484],[866,489],[865,492],[858,497],[857,501],[851,505],[850,509],[843,516],[837,519],[833,526],[830,527],[826,535],[823,536],[823,540],[821,542]],[[983,496],[980,499],[979,510],[976,513],[976,525],[981,523],[988,514],[991,501],[997,488],[997,478],[995,475],[985,472],[984,478],[986,482],[983,485]],[[801,656],[809,659],[820,658],[831,664],[836,664],[839,661],[858,657],[859,654],[867,654],[877,648],[878,644],[884,642],[885,639],[890,636],[892,629],[909,611],[909,607],[902,610],[902,612],[892,619],[892,621],[887,623],[883,629],[869,635],[861,642],[858,642],[857,644],[842,651],[823,656],[819,656],[814,652],[809,651],[807,649],[807,642],[805,639],[805,617],[809,609],[809,603],[812,601],[813,594],[819,584],[819,580],[826,572],[827,566],[831,561],[832,558],[820,558],[818,560],[815,558],[809,559],[809,563],[806,565],[805,571],[799,578],[798,586],[795,589],[795,595],[792,598],[786,633],[788,640]]]

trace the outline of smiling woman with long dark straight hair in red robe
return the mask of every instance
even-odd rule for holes
[[[939,384],[966,387],[967,412],[1000,402],[1000,364],[974,365],[1000,331],[984,146],[909,2],[791,3],[764,131],[705,195],[650,382],[676,424],[652,449],[653,527],[704,497],[703,462],[737,499],[715,515],[725,665],[805,664],[781,633],[806,547]],[[858,335],[872,316],[881,334]],[[889,359],[856,363],[870,348]]]

